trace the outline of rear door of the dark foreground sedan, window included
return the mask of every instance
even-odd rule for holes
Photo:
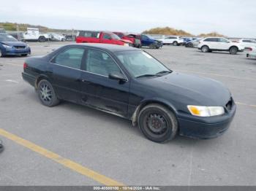
[[[72,102],[79,101],[80,68],[84,61],[84,53],[83,47],[69,47],[50,61],[50,81],[59,98]]]

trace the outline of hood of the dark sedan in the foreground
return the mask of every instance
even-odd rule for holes
[[[205,77],[173,72],[147,79],[144,82],[154,88],[152,90],[160,88],[169,101],[178,99],[182,104],[225,106],[231,96],[230,91],[221,82]]]

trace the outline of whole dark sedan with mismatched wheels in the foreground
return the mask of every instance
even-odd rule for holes
[[[69,44],[23,64],[23,79],[45,106],[71,101],[138,124],[151,141],[176,134],[214,138],[236,113],[230,91],[213,79],[171,71],[143,50]]]

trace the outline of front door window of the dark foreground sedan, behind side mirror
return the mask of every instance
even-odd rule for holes
[[[121,73],[113,58],[100,50],[88,50],[86,71],[103,76]]]

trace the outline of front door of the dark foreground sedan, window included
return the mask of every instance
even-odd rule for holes
[[[129,101],[129,82],[109,79],[108,75],[125,74],[116,61],[102,50],[88,50],[81,76],[81,100],[83,104],[127,116]]]

